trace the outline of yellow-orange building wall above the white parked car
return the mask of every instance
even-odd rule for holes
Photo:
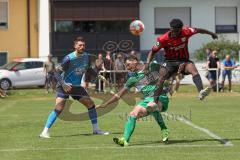
[[[37,57],[36,0],[30,0],[31,57]],[[8,0],[8,28],[0,29],[0,51],[8,52],[8,62],[28,57],[27,0]]]

